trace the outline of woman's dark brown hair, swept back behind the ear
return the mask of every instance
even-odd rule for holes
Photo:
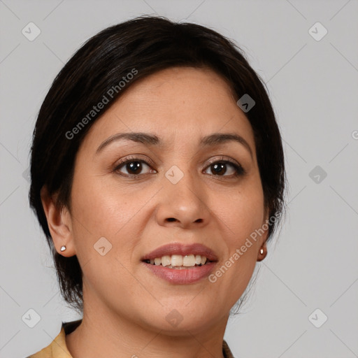
[[[74,163],[87,131],[136,81],[174,66],[209,68],[226,80],[236,100],[246,94],[255,101],[245,115],[255,136],[264,206],[275,217],[268,239],[282,215],[282,139],[264,83],[243,51],[213,29],[165,17],[145,15],[103,29],[85,42],[53,81],[38,113],[31,146],[30,206],[50,246],[62,296],[73,308],[83,310],[82,270],[76,255],[63,257],[55,250],[41,188],[45,186],[51,196],[57,194],[57,208],[71,212]],[[94,111],[104,97],[106,105]]]

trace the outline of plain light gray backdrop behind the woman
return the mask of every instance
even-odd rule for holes
[[[87,38],[151,13],[234,38],[266,82],[284,138],[288,214],[257,264],[250,301],[229,320],[229,347],[241,358],[358,357],[355,0],[0,0],[0,357],[35,352],[62,321],[78,318],[59,296],[27,201],[31,132],[44,96]],[[29,22],[41,30],[34,41],[22,34]],[[324,34],[316,22],[328,31],[320,41],[311,36]],[[22,320],[30,308],[41,316],[32,329]]]

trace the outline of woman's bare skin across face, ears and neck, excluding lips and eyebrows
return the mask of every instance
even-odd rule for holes
[[[96,154],[122,132],[155,134],[162,145],[113,141]],[[213,133],[242,136],[252,155],[236,141],[201,148]],[[115,171],[128,156],[149,164],[137,178],[126,177],[133,172],[125,165]],[[234,159],[245,173],[234,176],[227,164],[220,176],[211,159]],[[173,165],[184,174],[175,185],[165,176]],[[215,283],[175,285],[141,263],[166,243],[203,243],[219,258],[215,272],[268,219],[252,127],[220,76],[177,67],[138,81],[80,145],[71,210],[42,194],[57,252],[77,255],[83,269],[83,323],[66,336],[73,358],[223,357],[229,310],[266,255],[267,231]],[[94,250],[101,237],[112,244],[104,256]],[[166,321],[174,309],[182,317],[176,327]]]

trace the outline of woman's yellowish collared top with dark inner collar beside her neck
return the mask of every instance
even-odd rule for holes
[[[65,336],[74,331],[82,322],[82,320],[72,322],[62,322],[62,329],[56,338],[48,345],[43,348],[40,352],[30,355],[27,358],[72,358],[69,350],[66,347]],[[225,341],[222,341],[222,354],[225,358],[234,358],[229,349],[229,346]]]

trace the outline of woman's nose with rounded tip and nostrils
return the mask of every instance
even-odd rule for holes
[[[158,224],[183,229],[206,226],[210,217],[207,194],[199,180],[189,173],[176,184],[164,177],[156,210]]]

